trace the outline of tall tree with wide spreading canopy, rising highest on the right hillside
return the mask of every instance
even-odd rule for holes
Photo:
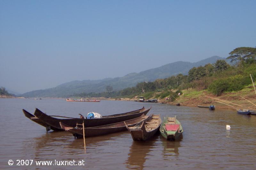
[[[246,63],[252,63],[256,61],[256,47],[238,47],[231,51],[230,56],[227,59],[233,61],[245,61]]]

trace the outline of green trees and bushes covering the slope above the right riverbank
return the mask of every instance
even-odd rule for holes
[[[113,98],[144,96],[146,99],[169,98],[169,101],[174,101],[178,97],[178,93],[182,94],[182,90],[188,91],[189,89],[193,91],[192,94],[189,94],[192,96],[202,94],[202,92],[220,96],[223,93],[238,92],[242,89],[248,89],[248,87],[253,90],[250,74],[255,80],[255,48],[239,47],[234,51],[230,52],[228,57],[232,62],[235,62],[234,65],[229,65],[225,60],[217,60],[213,64],[191,68],[188,71],[188,75],[178,74],[164,79],[156,79],[155,81],[144,81],[137,83],[134,87],[119,91],[108,90],[101,93],[77,93],[73,96]],[[174,90],[177,91],[171,92]]]

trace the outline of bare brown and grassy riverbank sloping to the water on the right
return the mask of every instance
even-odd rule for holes
[[[176,105],[177,103],[180,103],[182,106],[195,106],[196,105],[202,105],[202,106],[210,106],[214,105],[216,108],[221,109],[250,109],[250,110],[256,110],[256,106],[254,106],[252,103],[256,104],[256,94],[253,89],[253,86],[250,85],[248,87],[245,87],[244,89],[238,91],[238,92],[226,92],[223,93],[221,96],[215,96],[212,93],[210,93],[208,90],[202,90],[197,91],[195,89],[185,89],[182,90],[182,95],[180,95],[177,100],[170,102],[169,100],[165,99],[159,99],[158,103],[160,102],[166,102],[166,104],[172,104]],[[155,95],[154,95],[155,96]],[[231,103],[226,103],[231,106],[228,106],[223,103],[216,102],[214,99],[207,98],[206,96],[211,96],[215,98],[219,98],[222,100],[227,100]],[[242,97],[246,98],[250,102],[246,101]],[[104,100],[104,99],[103,99]],[[138,96],[135,96],[133,98],[105,98],[105,100],[119,100],[119,101],[135,101],[138,100]],[[238,106],[241,105],[241,106]],[[233,107],[232,107],[233,106]]]

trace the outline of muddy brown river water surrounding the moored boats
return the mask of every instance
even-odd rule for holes
[[[129,132],[124,131],[86,138],[84,153],[83,139],[75,140],[65,131],[46,133],[44,127],[22,113],[22,109],[34,113],[38,108],[49,115],[79,117],[79,113],[111,115],[142,106],[152,106],[148,114],[161,114],[162,118],[176,115],[184,129],[180,141],[166,141],[157,134],[148,141],[134,142]],[[233,110],[127,101],[0,99],[0,120],[0,168],[5,169],[256,169],[256,116],[238,115]],[[226,130],[226,125],[231,129]],[[13,165],[8,164],[9,160]],[[32,164],[26,165],[31,160]],[[36,161],[54,164],[55,160],[83,160],[84,165],[36,165]]]

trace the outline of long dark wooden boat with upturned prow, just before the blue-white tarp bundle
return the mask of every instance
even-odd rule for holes
[[[35,110],[34,115],[38,119],[40,119],[42,122],[50,126],[51,129],[53,127],[54,129],[63,130],[60,127],[60,122],[67,124],[68,126],[71,126],[71,127],[75,127],[76,123],[82,124],[83,122],[85,127],[101,126],[101,125],[113,124],[116,122],[122,122],[130,119],[134,119],[134,118],[140,117],[143,114],[146,115],[150,109],[151,108],[145,109],[143,107],[140,110],[135,110],[135,111],[116,114],[116,115],[102,116],[102,118],[94,118],[94,119],[81,119],[81,118],[71,118],[71,117],[59,119],[55,117],[61,117],[61,116],[54,116],[54,117],[49,116],[37,108]]]

